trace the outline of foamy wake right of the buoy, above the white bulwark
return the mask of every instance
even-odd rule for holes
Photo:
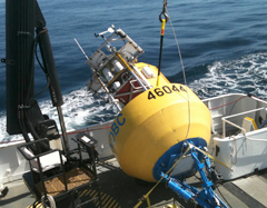
[[[215,61],[189,87],[201,98],[225,93],[253,93],[267,99],[267,52],[247,55],[236,60]]]

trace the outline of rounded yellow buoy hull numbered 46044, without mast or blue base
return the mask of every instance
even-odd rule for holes
[[[109,145],[127,175],[156,181],[154,168],[160,157],[188,138],[202,138],[207,146],[210,123],[208,108],[188,87],[166,83],[142,92],[121,110]]]

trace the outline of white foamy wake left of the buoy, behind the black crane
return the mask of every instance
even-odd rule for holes
[[[101,123],[115,118],[117,111],[112,105],[105,103],[87,91],[86,87],[63,96],[62,112],[67,131],[79,129],[89,125]],[[60,128],[57,109],[50,100],[39,102],[43,115],[56,120]],[[8,142],[23,139],[21,136],[9,136],[6,132],[6,112],[0,112],[0,141]]]

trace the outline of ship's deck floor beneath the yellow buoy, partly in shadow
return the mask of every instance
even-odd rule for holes
[[[103,207],[106,208],[129,208],[135,207],[138,200],[146,195],[154,184],[138,181],[127,176],[119,167],[115,158],[101,161],[98,165],[99,184],[102,194]],[[198,175],[188,178],[188,184],[200,187]],[[9,192],[0,199],[1,208],[29,207],[34,202],[33,196],[29,192],[22,180],[7,184]],[[218,196],[233,208],[236,207],[267,207],[267,170],[259,171],[253,176],[227,181],[217,185]],[[91,190],[80,192],[83,197],[95,195]],[[165,184],[160,184],[149,196],[152,207],[164,208],[167,205],[177,205],[182,208],[195,207],[195,204],[179,198]],[[42,206],[38,206],[42,207]],[[147,207],[147,202],[140,207]]]

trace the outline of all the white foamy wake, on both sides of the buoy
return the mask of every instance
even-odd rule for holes
[[[231,92],[253,93],[267,99],[267,52],[247,55],[236,60],[215,61],[205,68],[204,75],[194,75],[198,78],[188,82],[200,99]],[[62,112],[68,131],[111,120],[117,113],[112,105],[105,103],[102,99],[87,91],[86,87],[65,95],[63,101]],[[44,115],[59,122],[57,110],[50,100],[39,103]],[[6,132],[6,112],[0,112],[0,141],[18,139],[22,137],[9,136]]]

